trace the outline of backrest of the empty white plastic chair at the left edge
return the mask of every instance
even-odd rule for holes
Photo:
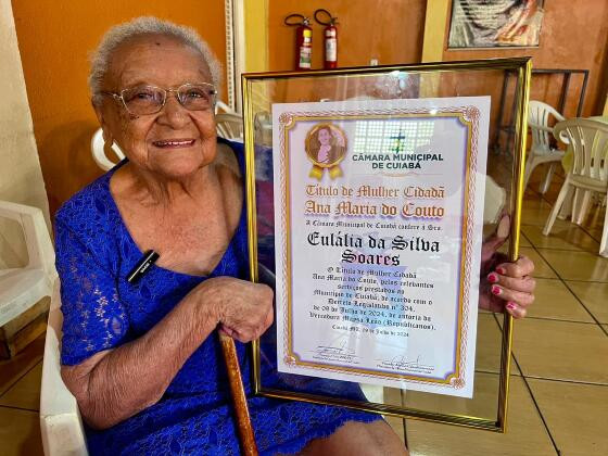
[[[42,269],[52,283],[56,277],[55,252],[42,211],[25,204],[0,201],[0,217],[15,220],[22,226],[28,256],[26,268]]]

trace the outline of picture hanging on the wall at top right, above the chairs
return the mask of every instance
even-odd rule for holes
[[[539,46],[545,0],[453,0],[448,49]]]

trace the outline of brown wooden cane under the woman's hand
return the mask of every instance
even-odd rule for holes
[[[257,456],[257,445],[255,444],[251,418],[249,417],[245,390],[243,389],[239,358],[237,357],[237,347],[232,338],[223,331],[219,331],[219,341],[221,342],[228,381],[230,382],[230,391],[232,392],[232,401],[235,403],[241,451],[245,456]]]

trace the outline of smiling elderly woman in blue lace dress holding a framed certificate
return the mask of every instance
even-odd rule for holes
[[[94,54],[92,103],[127,160],[56,215],[62,376],[91,454],[239,454],[214,331],[241,342],[249,392],[243,343],[270,326],[273,291],[245,280],[243,151],[216,137],[218,85],[195,33],[155,18],[112,28]],[[149,250],[159,261],[128,282]],[[493,280],[523,316],[531,266],[502,267]],[[250,410],[264,454],[406,453],[376,415],[264,397]]]

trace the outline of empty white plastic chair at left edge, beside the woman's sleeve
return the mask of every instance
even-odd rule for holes
[[[0,326],[50,296],[58,277],[55,254],[45,216],[38,207],[0,201],[0,217],[18,223],[25,236],[28,263],[0,269]]]

